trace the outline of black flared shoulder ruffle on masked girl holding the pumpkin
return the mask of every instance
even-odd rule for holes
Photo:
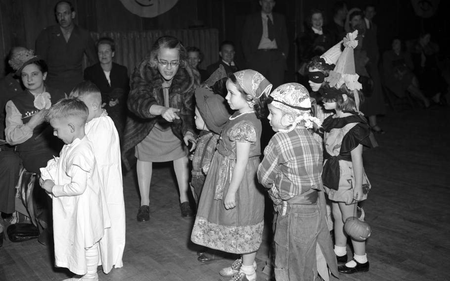
[[[342,139],[341,153],[350,152],[359,144],[362,144],[364,148],[378,146],[369,126],[364,123],[358,123],[345,134]]]

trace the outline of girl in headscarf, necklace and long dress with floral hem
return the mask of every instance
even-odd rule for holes
[[[259,72],[247,69],[226,82],[226,101],[236,110],[222,131],[211,162],[197,217],[194,243],[242,254],[222,276],[236,281],[256,280],[256,251],[264,228],[264,194],[257,186],[261,155],[261,121],[272,85]],[[238,271],[239,269],[239,271]]]

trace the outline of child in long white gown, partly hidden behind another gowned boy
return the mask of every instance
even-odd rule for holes
[[[100,240],[103,272],[109,273],[113,266],[123,267],[122,256],[125,248],[125,203],[119,135],[106,110],[101,108],[100,90],[93,83],[81,82],[72,90],[70,96],[80,97],[89,109],[86,136],[94,147],[109,216],[112,218],[111,228],[105,230]]]

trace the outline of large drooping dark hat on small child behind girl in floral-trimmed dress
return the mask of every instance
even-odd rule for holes
[[[214,94],[207,87],[200,87],[195,90],[195,101],[208,129],[220,135],[231,115],[225,105],[225,98],[220,94]]]

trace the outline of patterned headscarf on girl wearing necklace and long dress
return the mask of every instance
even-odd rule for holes
[[[234,77],[245,93],[250,94],[253,98],[259,98],[263,94],[269,95],[272,89],[269,80],[253,69],[234,72]]]

